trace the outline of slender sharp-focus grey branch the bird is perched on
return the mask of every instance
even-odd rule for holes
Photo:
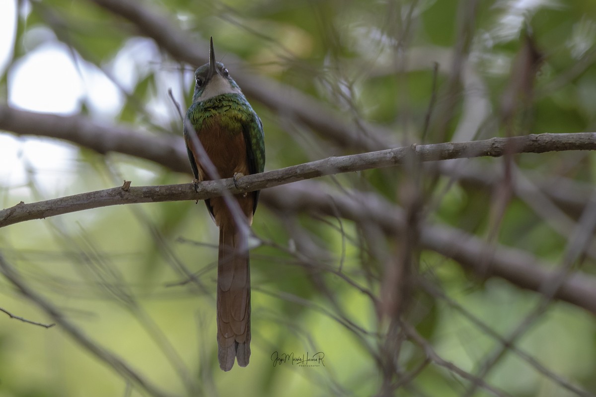
[[[53,119],[54,116],[51,116],[51,118]],[[52,121],[56,122],[57,120]],[[0,118],[1,124],[2,118]],[[88,135],[88,132],[83,135]],[[403,164],[412,155],[415,155],[418,161],[483,156],[499,157],[504,154],[505,147],[507,147],[507,150],[516,153],[596,149],[596,133],[525,135],[510,138],[495,137],[473,142],[412,145],[377,152],[328,157],[323,160],[280,168],[279,170],[246,175],[237,180],[228,178],[205,181],[197,183],[196,186],[182,184],[129,187],[125,183],[125,186],[121,188],[97,190],[32,204],[20,202],[14,207],[0,211],[0,227],[21,221],[41,219],[108,205],[204,200],[221,196],[225,192],[232,194],[252,192],[325,175],[391,167]]]

